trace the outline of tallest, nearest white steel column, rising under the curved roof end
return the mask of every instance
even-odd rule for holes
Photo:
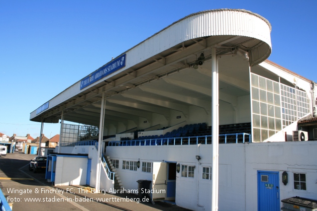
[[[211,118],[212,118],[212,192],[211,192],[211,211],[218,211],[218,176],[219,176],[219,155],[218,155],[218,141],[219,141],[219,91],[218,91],[218,64],[216,48],[211,49]]]

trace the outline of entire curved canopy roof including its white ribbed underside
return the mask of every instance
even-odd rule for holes
[[[98,126],[100,108],[95,103],[101,100],[102,93],[107,97],[109,121],[133,120],[134,115],[147,118],[153,112],[168,118],[169,109],[186,114],[188,105],[210,102],[209,66],[214,46],[219,57],[239,55],[219,62],[223,67],[220,73],[235,78],[221,79],[220,74],[223,97],[247,95],[249,86],[243,85],[249,83],[247,67],[269,57],[270,32],[271,25],[265,18],[247,10],[216,9],[188,15],[44,103],[30,114],[30,120],[58,122],[64,110],[65,120]],[[204,64],[195,70],[193,66],[202,53]],[[122,57],[124,65],[119,70],[81,86],[86,78],[89,80],[96,72],[113,66],[116,60],[122,62]]]

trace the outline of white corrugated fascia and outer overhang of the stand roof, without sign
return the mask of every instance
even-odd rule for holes
[[[97,102],[102,92],[116,94],[122,85],[135,86],[159,78],[158,75],[167,74],[173,68],[175,71],[188,68],[200,53],[205,52],[208,57],[206,52],[213,46],[217,47],[218,55],[247,52],[252,67],[269,57],[270,32],[271,25],[265,18],[243,9],[216,9],[188,15],[122,53],[126,54],[126,66],[121,70],[82,90],[78,81],[44,103],[41,112],[33,111],[30,120],[58,122],[62,110],[76,110]]]

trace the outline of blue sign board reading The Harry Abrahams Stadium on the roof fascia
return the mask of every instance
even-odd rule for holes
[[[90,84],[95,83],[96,81],[106,77],[107,75],[109,75],[110,73],[116,70],[120,70],[121,68],[124,68],[125,57],[126,57],[126,54],[123,54],[119,58],[111,61],[109,64],[105,65],[104,67],[101,67],[100,69],[94,71],[93,73],[91,73],[90,75],[82,79],[80,82],[80,89],[83,89],[89,86]]]

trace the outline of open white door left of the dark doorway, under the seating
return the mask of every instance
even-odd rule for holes
[[[167,163],[153,162],[152,201],[166,200]]]

